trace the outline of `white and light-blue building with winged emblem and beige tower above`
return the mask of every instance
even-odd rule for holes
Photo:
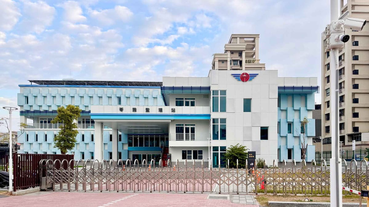
[[[19,152],[60,153],[53,145],[59,106],[82,109],[75,159],[210,161],[225,166],[225,151],[245,145],[264,158],[315,157],[313,119],[316,77],[278,77],[259,63],[259,35],[232,35],[227,53],[215,54],[207,77],[163,77],[162,82],[44,81],[19,85]],[[224,56],[224,57],[223,57]],[[223,63],[224,62],[224,63]],[[230,65],[231,63],[232,65]],[[233,65],[234,64],[234,65]],[[301,131],[301,120],[309,120]],[[28,118],[28,119],[27,119]],[[32,123],[33,122],[33,123]]]

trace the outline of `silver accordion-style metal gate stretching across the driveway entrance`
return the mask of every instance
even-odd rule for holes
[[[73,168],[73,162],[81,168]],[[321,166],[315,161],[307,166],[306,162],[292,168],[286,168],[286,161],[277,168],[274,161],[272,168],[239,169],[236,168],[204,168],[195,167],[195,161],[183,166],[177,160],[175,165],[167,161],[169,167],[163,167],[162,160],[155,166],[146,160],[133,164],[130,160],[99,162],[98,160],[83,162],[59,159],[42,160],[48,184],[53,190],[68,191],[114,191],[114,192],[217,192],[217,193],[285,193],[285,194],[329,194],[330,170],[325,161]],[[355,160],[343,162],[342,185],[355,190],[366,189],[368,184],[368,166],[366,162]],[[61,165],[68,164],[68,168]],[[229,166],[229,164],[228,164]],[[247,161],[246,161],[247,166]]]

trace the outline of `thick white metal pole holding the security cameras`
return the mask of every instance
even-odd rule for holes
[[[338,0],[331,0],[331,22],[338,21],[339,7]],[[332,25],[333,26],[333,25]],[[331,206],[342,207],[342,175],[340,171],[341,159],[339,159],[339,140],[338,140],[338,48],[331,49],[331,139],[332,139],[332,158],[330,159],[330,180],[331,180]]]

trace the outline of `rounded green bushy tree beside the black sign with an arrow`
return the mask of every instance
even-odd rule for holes
[[[237,159],[238,159],[238,168],[246,168],[246,159],[247,159],[247,151],[249,149],[246,146],[242,146],[240,144],[231,145],[228,147],[227,151],[225,152],[225,156],[223,160],[225,163],[228,164],[228,159],[230,161],[230,168],[237,168]]]

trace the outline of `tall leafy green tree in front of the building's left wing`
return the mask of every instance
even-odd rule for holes
[[[58,115],[51,121],[53,124],[60,124],[60,131],[56,134],[54,143],[62,154],[72,150],[77,142],[78,130],[76,130],[77,124],[74,121],[81,116],[81,112],[78,106],[68,105],[66,108],[61,106],[58,108]]]

